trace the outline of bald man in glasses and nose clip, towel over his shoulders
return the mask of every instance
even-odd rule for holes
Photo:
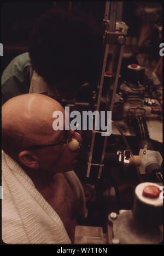
[[[67,146],[72,137],[79,143],[82,138],[72,130],[53,130],[56,110],[65,116],[58,102],[36,93],[2,107],[5,243],[73,243],[77,219],[86,214],[83,187],[72,171],[79,149]]]

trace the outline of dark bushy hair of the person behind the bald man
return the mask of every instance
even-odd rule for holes
[[[39,18],[30,37],[29,53],[33,69],[52,88],[68,92],[96,81],[102,32],[95,25],[91,16],[78,8],[71,12],[52,9]]]

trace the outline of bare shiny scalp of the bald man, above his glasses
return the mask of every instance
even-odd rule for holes
[[[24,94],[9,99],[2,107],[2,149],[11,157],[36,144],[57,140],[61,131],[52,129],[52,113],[65,110],[43,94]]]

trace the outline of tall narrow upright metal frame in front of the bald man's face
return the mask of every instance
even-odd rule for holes
[[[101,80],[97,87],[99,87],[98,91],[98,98],[97,98],[97,107],[96,110],[99,111],[99,107],[101,104],[101,96],[102,96],[102,88],[104,84],[104,74],[106,71],[107,66],[107,58],[109,54],[109,45],[113,46],[113,54],[112,54],[112,63],[109,63],[110,71],[112,71],[112,83],[114,85],[113,87],[113,93],[112,98],[110,97],[110,91],[111,91],[111,84],[109,85],[109,90],[106,97],[106,110],[113,110],[114,105],[114,97],[116,93],[116,89],[118,86],[118,80],[119,80],[119,74],[120,74],[120,68],[121,68],[121,62],[122,62],[122,55],[124,52],[124,44],[126,42],[126,35],[127,35],[127,29],[125,23],[122,21],[117,21],[122,18],[122,8],[123,8],[123,2],[106,2],[106,9],[104,13],[104,24],[106,26],[105,35],[104,35],[104,58],[103,58],[103,64],[102,64],[102,74],[101,74]],[[108,19],[110,11],[110,20]],[[101,177],[102,169],[104,167],[104,155],[106,152],[107,147],[107,141],[108,136],[104,138],[104,144],[101,154],[101,162],[99,164],[92,163],[92,155],[93,155],[93,148],[95,145],[95,137],[96,133],[101,131],[95,130],[96,124],[94,124],[93,131],[92,131],[92,140],[91,140],[91,147],[90,147],[90,153],[89,153],[89,162],[87,167],[87,174],[86,177],[90,176],[91,166],[99,166],[98,170],[98,179]]]

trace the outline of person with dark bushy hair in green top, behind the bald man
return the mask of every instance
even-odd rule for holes
[[[30,36],[29,53],[17,56],[2,75],[2,103],[24,93],[44,93],[60,101],[86,82],[97,85],[101,30],[78,8],[42,15]]]

